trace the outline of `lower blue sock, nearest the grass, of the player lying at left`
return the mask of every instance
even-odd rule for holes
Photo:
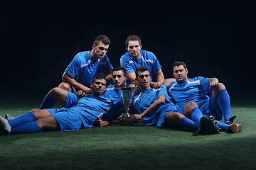
[[[18,125],[14,128],[11,128],[11,134],[14,133],[33,133],[39,132],[40,126],[36,122],[24,123],[22,125]]]

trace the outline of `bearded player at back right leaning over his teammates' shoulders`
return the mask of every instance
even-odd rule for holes
[[[144,66],[149,68],[150,86],[153,88],[161,87],[164,83],[164,74],[161,64],[153,52],[142,50],[142,40],[137,35],[129,35],[125,41],[126,52],[120,58],[120,65],[127,71],[127,81],[125,86],[135,86],[137,84],[137,68]],[[152,82],[155,76],[156,82]]]

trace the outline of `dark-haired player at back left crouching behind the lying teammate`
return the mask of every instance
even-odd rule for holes
[[[92,44],[92,50],[79,52],[68,64],[63,74],[63,82],[59,84],[61,89],[75,93],[82,90],[85,94],[90,94],[90,84],[96,74],[103,72],[107,82],[112,80],[112,64],[107,57],[107,50],[110,46],[110,38],[106,35],[99,35]],[[47,95],[40,108],[47,108],[55,101]]]

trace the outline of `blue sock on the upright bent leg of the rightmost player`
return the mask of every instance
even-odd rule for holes
[[[224,122],[226,122],[231,116],[230,97],[228,95],[228,91],[226,89],[219,91],[217,98],[218,98],[218,106],[220,106],[220,109],[223,114]]]

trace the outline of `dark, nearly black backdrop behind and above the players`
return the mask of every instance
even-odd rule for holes
[[[208,2],[186,8],[164,6],[157,12],[159,7],[110,8],[97,13],[78,4],[1,6],[0,95],[30,90],[44,96],[58,86],[78,52],[91,50],[97,35],[110,37],[107,55],[117,66],[126,52],[124,41],[136,34],[142,38],[142,48],[158,57],[166,78],[172,77],[171,64],[182,60],[189,77],[218,77],[232,100],[254,98],[256,20],[252,4]]]

